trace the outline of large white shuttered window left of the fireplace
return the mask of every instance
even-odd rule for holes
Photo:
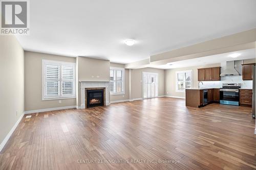
[[[75,63],[42,60],[42,100],[75,98]]]

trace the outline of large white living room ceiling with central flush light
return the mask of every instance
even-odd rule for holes
[[[33,0],[30,35],[17,38],[27,51],[130,63],[253,28],[255,0]]]

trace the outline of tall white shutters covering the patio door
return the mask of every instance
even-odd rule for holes
[[[143,72],[143,98],[155,98],[158,96],[158,74]]]

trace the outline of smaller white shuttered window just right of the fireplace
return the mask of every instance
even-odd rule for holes
[[[124,94],[124,68],[110,68],[110,94]]]

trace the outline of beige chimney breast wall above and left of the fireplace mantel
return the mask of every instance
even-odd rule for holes
[[[110,61],[86,57],[77,57],[77,80],[78,81],[109,81]],[[98,78],[97,78],[98,76]],[[81,89],[78,83],[77,106],[81,106]]]

